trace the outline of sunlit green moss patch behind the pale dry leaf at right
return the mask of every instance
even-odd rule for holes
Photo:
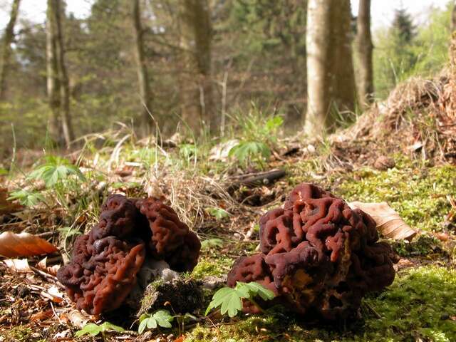
[[[347,201],[388,202],[405,222],[426,231],[440,230],[456,195],[456,167],[428,168],[403,158],[386,171],[364,167],[343,178],[336,195]],[[418,165],[417,165],[418,164]]]

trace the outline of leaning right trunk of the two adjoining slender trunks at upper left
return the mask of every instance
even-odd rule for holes
[[[56,51],[58,54],[57,67],[58,76],[60,77],[61,84],[61,120],[63,138],[65,139],[66,147],[70,147],[71,142],[74,140],[73,126],[71,125],[70,115],[70,81],[68,80],[68,73],[65,65],[65,47],[63,46],[63,31],[61,21],[61,0],[55,1],[55,10],[53,14],[56,21]]]

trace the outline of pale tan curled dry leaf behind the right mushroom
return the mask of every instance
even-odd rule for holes
[[[350,202],[348,205],[352,209],[361,209],[363,212],[371,215],[377,224],[380,234],[395,240],[411,241],[417,234],[417,231],[411,228],[399,216],[398,212],[386,202],[380,203],[363,203]]]

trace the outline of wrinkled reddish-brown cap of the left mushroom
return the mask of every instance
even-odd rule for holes
[[[146,259],[192,271],[200,248],[197,235],[160,200],[110,195],[98,224],[76,239],[71,262],[57,277],[78,309],[100,314],[123,303]]]

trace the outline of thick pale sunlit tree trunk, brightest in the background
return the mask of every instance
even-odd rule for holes
[[[333,131],[355,109],[349,0],[309,0],[307,7],[307,113],[311,135]]]

